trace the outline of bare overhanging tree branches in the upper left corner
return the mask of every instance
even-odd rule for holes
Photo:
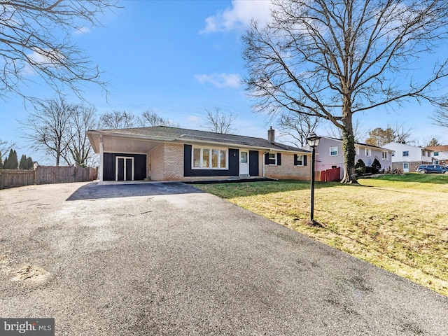
[[[34,76],[53,89],[80,94],[80,83],[97,83],[100,72],[71,42],[74,31],[99,25],[99,16],[116,0],[0,1],[0,92],[28,97],[22,90]]]

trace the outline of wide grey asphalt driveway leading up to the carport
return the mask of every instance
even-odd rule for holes
[[[0,190],[0,318],[56,335],[448,335],[448,299],[183,183]]]

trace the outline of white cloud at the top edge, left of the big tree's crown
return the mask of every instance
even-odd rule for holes
[[[270,16],[269,6],[271,1],[267,0],[232,0],[232,8],[209,16],[205,20],[206,27],[202,33],[213,33],[216,31],[231,31],[248,27],[252,19],[264,25]]]

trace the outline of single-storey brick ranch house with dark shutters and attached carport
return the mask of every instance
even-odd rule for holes
[[[309,180],[309,151],[268,139],[176,127],[90,130],[100,181]]]

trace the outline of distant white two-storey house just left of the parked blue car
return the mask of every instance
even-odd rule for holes
[[[419,146],[411,146],[400,142],[390,142],[383,146],[391,149],[393,169],[403,169],[403,172],[415,172],[419,165],[430,165],[433,162],[431,151]]]

